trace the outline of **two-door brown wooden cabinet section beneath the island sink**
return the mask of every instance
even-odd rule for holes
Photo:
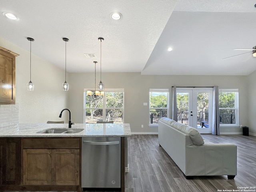
[[[23,185],[79,186],[80,138],[24,138],[22,143]]]

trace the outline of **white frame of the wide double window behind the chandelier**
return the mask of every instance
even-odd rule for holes
[[[84,88],[84,124],[86,123],[86,110],[87,109],[99,109],[102,110],[102,121],[106,121],[106,110],[108,109],[122,109],[123,110],[123,116],[122,116],[122,123],[124,123],[124,88],[108,88],[104,89],[104,96],[102,98],[102,106],[103,107],[92,107],[92,108],[86,108],[86,94],[87,90],[94,90],[92,88]],[[123,107],[106,107],[106,93],[107,92],[123,92]]]

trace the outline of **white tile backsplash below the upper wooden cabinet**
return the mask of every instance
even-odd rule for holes
[[[0,128],[19,123],[19,106],[0,105]]]

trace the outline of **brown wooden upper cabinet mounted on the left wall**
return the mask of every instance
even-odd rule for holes
[[[0,104],[15,104],[15,57],[10,50],[0,47]]]

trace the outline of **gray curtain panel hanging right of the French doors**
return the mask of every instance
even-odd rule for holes
[[[212,134],[220,135],[219,87],[213,88]]]

